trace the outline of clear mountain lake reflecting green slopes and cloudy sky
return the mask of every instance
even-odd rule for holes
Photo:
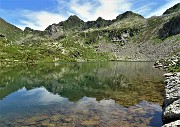
[[[0,127],[160,127],[153,62],[47,63],[0,70]]]

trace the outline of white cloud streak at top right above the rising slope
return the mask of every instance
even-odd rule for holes
[[[155,11],[151,12],[146,17],[149,18],[151,16],[160,16],[162,15],[168,8],[174,6],[175,4],[179,3],[180,0],[166,0],[167,3],[162,5],[161,7],[157,8]]]

